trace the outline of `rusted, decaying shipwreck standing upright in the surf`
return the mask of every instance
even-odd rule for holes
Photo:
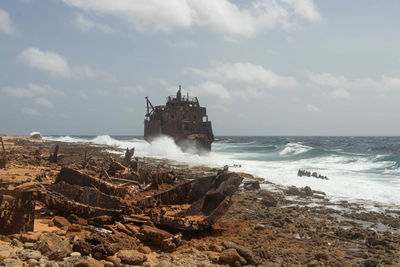
[[[144,139],[147,142],[167,135],[184,151],[211,151],[214,135],[206,108],[200,106],[197,97],[182,96],[181,86],[176,96],[167,97],[166,105],[153,106],[146,97],[146,107]]]

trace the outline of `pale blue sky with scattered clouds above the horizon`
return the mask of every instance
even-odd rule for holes
[[[0,134],[142,135],[179,85],[215,135],[400,135],[400,1],[0,0]]]

